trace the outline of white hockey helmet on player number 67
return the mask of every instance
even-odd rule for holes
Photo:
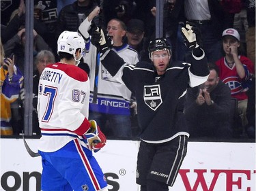
[[[80,33],[72,32],[72,31],[63,31],[58,38],[57,41],[59,52],[66,52],[68,54],[72,54],[74,60],[79,61],[82,56],[85,55],[85,41]],[[81,48],[81,55],[76,59],[76,50]]]

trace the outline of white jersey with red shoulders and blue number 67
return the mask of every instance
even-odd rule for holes
[[[42,137],[39,150],[54,152],[89,128],[89,78],[74,65],[48,65],[38,86],[38,119]]]

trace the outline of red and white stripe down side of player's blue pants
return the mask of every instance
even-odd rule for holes
[[[81,145],[79,144],[79,141],[77,139],[74,139],[74,143],[75,143],[76,148],[81,156],[83,164],[85,164],[85,169],[87,170],[87,172],[89,174],[92,184],[94,185],[94,189],[100,190],[100,185],[98,183],[98,180],[96,179],[96,176],[94,175],[94,171],[91,169],[91,164],[89,164],[88,158],[85,155],[85,152],[83,152],[83,149],[82,149]]]

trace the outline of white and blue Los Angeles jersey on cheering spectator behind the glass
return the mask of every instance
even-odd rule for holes
[[[137,51],[130,48],[128,44],[123,44],[123,46],[120,47],[114,47],[112,50],[115,51],[118,56],[123,58],[128,65],[136,65],[139,62]],[[98,65],[98,76],[96,76],[95,46],[90,46],[89,54],[93,54],[93,56],[85,56],[85,63],[91,63],[91,65],[89,65],[89,77],[91,82],[91,100],[89,110],[103,114],[130,116],[130,99],[132,92],[124,84],[117,82],[101,63]],[[95,60],[89,62],[88,58],[91,57],[95,58]],[[120,75],[122,74],[120,73]],[[98,79],[98,82],[96,82],[95,78]],[[92,103],[94,86],[98,86],[96,104]]]

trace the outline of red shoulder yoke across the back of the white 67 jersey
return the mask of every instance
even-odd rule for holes
[[[47,67],[51,69],[59,69],[65,72],[68,76],[74,78],[74,80],[78,80],[80,82],[86,82],[88,80],[87,73],[83,71],[83,69],[76,67],[75,65],[55,63],[55,64],[47,65]]]

